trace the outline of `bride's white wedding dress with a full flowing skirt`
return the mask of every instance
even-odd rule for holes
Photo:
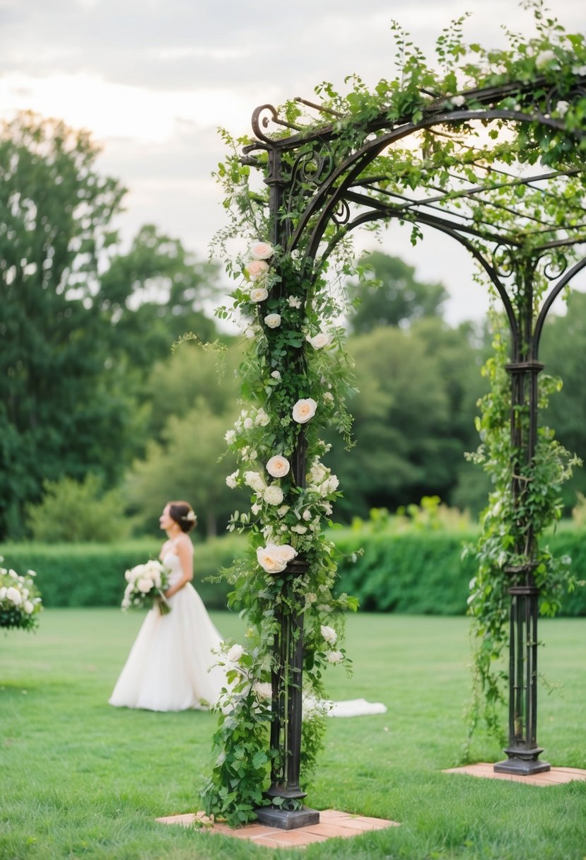
[[[173,550],[162,559],[169,585],[181,576]],[[143,621],[109,703],[144,710],[207,710],[226,684],[225,669],[213,667],[222,636],[191,582],[168,599],[171,611],[154,606]],[[210,671],[208,671],[210,670]]]

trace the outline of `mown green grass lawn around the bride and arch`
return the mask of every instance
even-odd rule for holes
[[[237,616],[212,616],[241,638]],[[0,638],[2,860],[586,856],[586,783],[540,789],[442,773],[458,764],[465,737],[465,618],[350,617],[354,677],[329,673],[333,698],[382,701],[388,713],[328,721],[308,803],[400,827],[277,852],[157,824],[198,808],[215,719],[108,706],[141,621],[113,609],[53,609],[36,635]],[[540,623],[540,671],[564,687],[563,695],[540,689],[538,738],[552,765],[586,768],[585,634],[586,619]],[[501,758],[495,742],[475,740],[473,760]]]

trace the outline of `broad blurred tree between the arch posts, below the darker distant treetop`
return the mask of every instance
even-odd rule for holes
[[[345,518],[429,494],[451,501],[464,452],[476,446],[475,402],[483,390],[470,334],[467,325],[450,329],[429,319],[349,340],[357,444],[351,451],[334,446],[327,457],[345,488],[338,506]]]

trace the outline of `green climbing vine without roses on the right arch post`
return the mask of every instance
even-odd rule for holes
[[[495,357],[487,361],[484,369],[491,389],[479,401],[477,427],[482,444],[470,455],[491,477],[493,488],[481,517],[482,533],[466,553],[478,565],[469,597],[469,613],[474,619],[469,731],[472,733],[482,715],[491,732],[500,735],[498,705],[504,701],[508,676],[496,667],[508,643],[509,587],[530,569],[540,588],[540,612],[551,616],[559,611],[564,592],[576,587],[570,556],[555,556],[548,545],[537,542],[561,518],[560,488],[580,461],[559,445],[546,426],[539,427],[534,456],[528,459],[527,449],[511,433],[511,385],[505,370],[507,344],[498,333],[494,347]],[[540,408],[545,410],[548,395],[559,386],[556,380],[543,376],[538,385]],[[526,439],[526,404],[515,407],[515,420],[519,438]]]

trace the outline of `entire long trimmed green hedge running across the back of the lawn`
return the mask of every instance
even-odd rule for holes
[[[375,531],[335,529],[339,558],[338,593],[360,600],[363,611],[412,615],[464,615],[472,558],[461,559],[461,546],[473,532]],[[586,581],[586,532],[564,528],[546,540],[555,555],[569,555],[579,580]],[[223,609],[229,586],[205,580],[240,556],[246,539],[218,537],[195,546],[195,586],[205,605]],[[351,562],[352,553],[363,556]],[[19,574],[32,568],[46,606],[119,605],[124,572],[155,558],[160,542],[143,539],[122,544],[4,544],[4,564]],[[586,587],[565,597],[561,615],[586,616]]]

